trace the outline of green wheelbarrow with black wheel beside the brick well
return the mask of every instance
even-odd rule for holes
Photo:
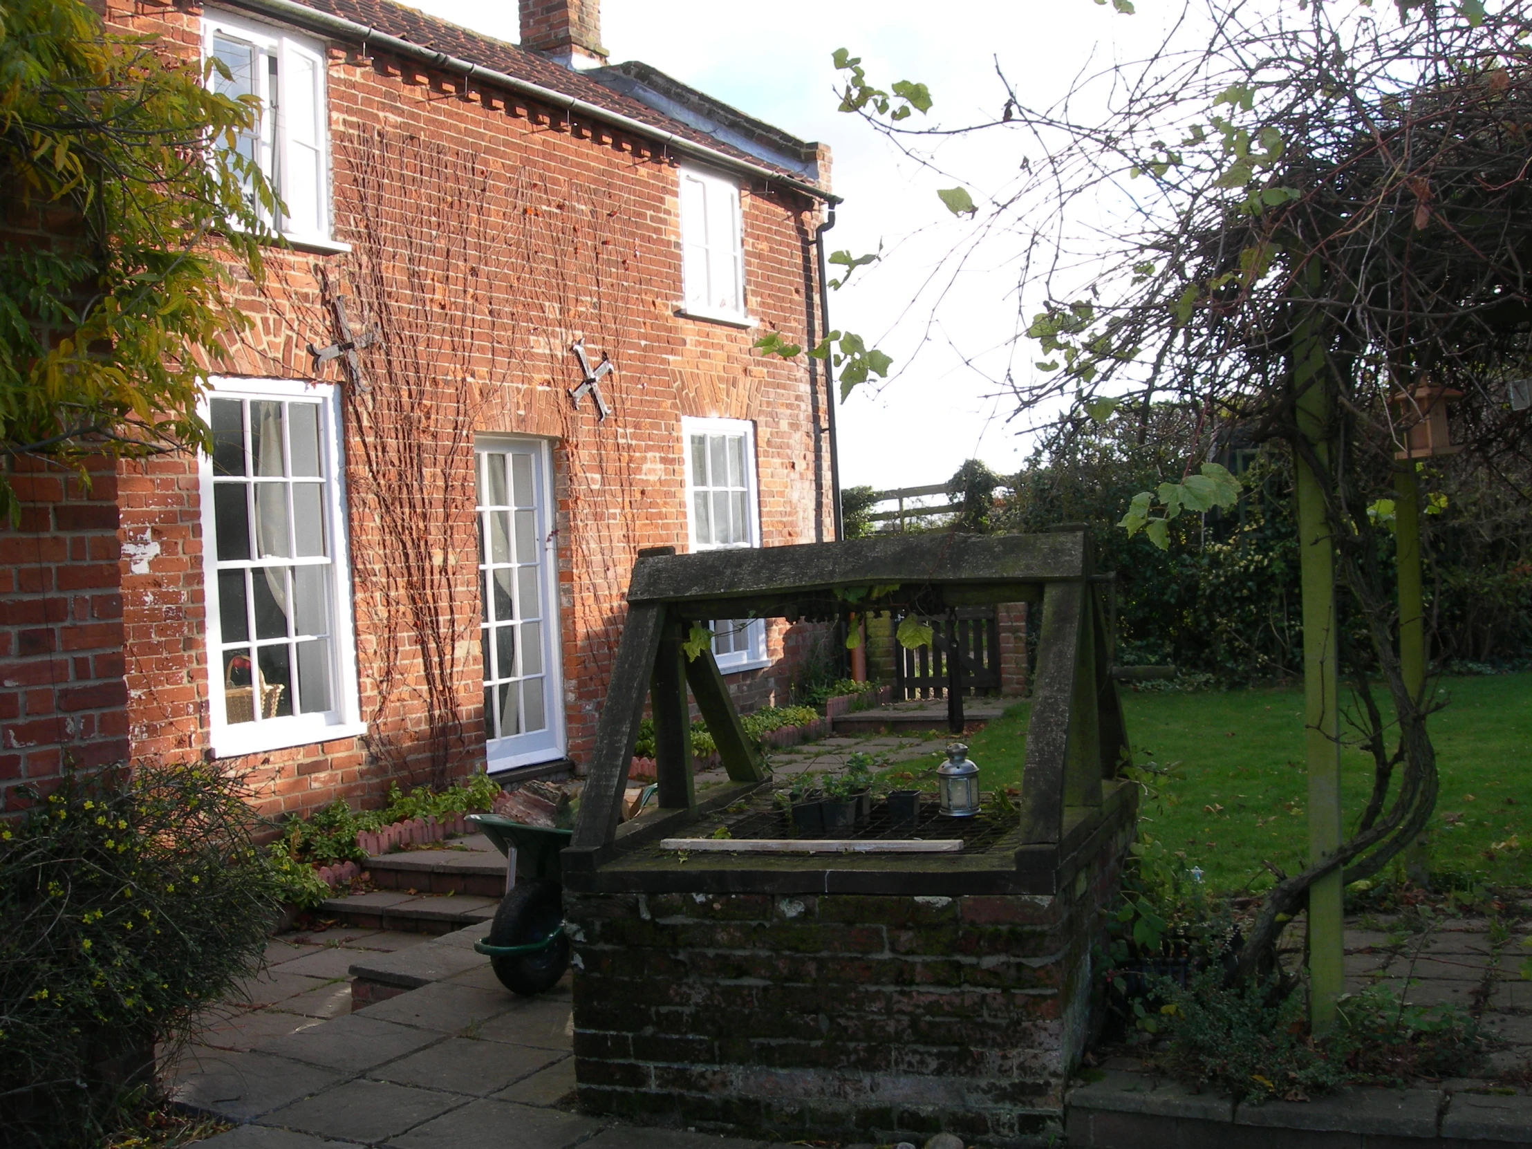
[[[643,789],[639,809],[656,789]],[[570,968],[559,852],[570,844],[573,830],[525,826],[498,813],[470,813],[467,821],[507,858],[516,852],[516,879],[495,910],[489,938],[473,942],[473,948],[489,958],[495,976],[512,993],[522,997],[547,993]]]

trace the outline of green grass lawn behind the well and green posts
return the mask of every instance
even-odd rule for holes
[[[1431,717],[1442,772],[1431,867],[1532,884],[1532,674],[1445,679],[1440,694],[1448,706]],[[1268,885],[1262,858],[1288,873],[1299,867],[1307,850],[1301,691],[1124,691],[1123,703],[1135,761],[1175,763],[1183,774],[1144,807],[1151,833],[1186,850],[1221,889]],[[1020,703],[973,737],[970,757],[985,789],[1020,784],[1028,709]],[[1371,789],[1371,757],[1347,748],[1342,771],[1353,827]],[[1512,838],[1524,847],[1491,850]]]

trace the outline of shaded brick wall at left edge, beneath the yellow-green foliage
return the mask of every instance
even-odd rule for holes
[[[129,757],[116,476],[15,460],[20,519],[0,521],[0,809],[17,786]]]

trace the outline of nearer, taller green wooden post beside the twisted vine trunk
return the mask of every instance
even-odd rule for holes
[[[1318,268],[1313,268],[1318,273]],[[1316,280],[1318,274],[1311,274]],[[1310,283],[1318,288],[1318,283]],[[1330,464],[1330,395],[1325,348],[1305,317],[1293,340],[1298,430],[1321,467]],[[1298,541],[1304,587],[1304,746],[1308,763],[1308,856],[1319,861],[1340,846],[1340,726],[1336,680],[1334,553],[1325,490],[1298,460]],[[1345,987],[1342,876],[1336,870],[1308,889],[1308,1020],[1316,1034],[1334,1026]]]

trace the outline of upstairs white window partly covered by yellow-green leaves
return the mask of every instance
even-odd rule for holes
[[[270,25],[208,11],[202,52],[228,70],[227,78],[216,67],[208,72],[214,92],[260,100],[260,118],[233,147],[260,169],[282,201],[268,219],[271,227],[293,242],[332,247],[323,47]]]

